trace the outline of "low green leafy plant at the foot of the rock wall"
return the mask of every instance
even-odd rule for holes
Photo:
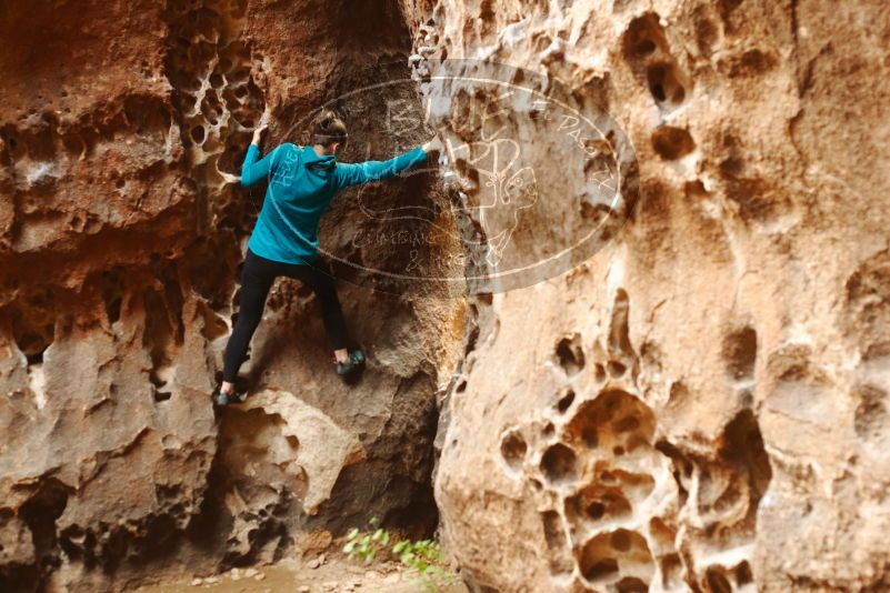
[[[349,530],[343,553],[350,559],[359,557],[370,564],[382,555],[398,559],[402,565],[413,569],[417,574],[417,585],[424,591],[436,593],[441,586],[454,582],[454,574],[448,570],[442,550],[432,540],[399,540],[389,531],[379,526],[379,521],[369,522],[371,531],[362,532],[358,527]],[[390,542],[394,542],[390,546]]]

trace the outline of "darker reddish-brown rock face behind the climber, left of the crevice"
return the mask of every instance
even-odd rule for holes
[[[436,522],[434,394],[462,336],[459,301],[341,287],[369,353],[346,386],[314,298],[282,281],[242,369],[253,396],[217,415],[209,399],[263,191],[227,173],[264,110],[267,148],[299,142],[322,102],[407,74],[398,7],[162,4],[0,7],[2,591],[123,590],[324,545],[374,515]],[[388,99],[347,105],[346,160],[426,139],[364,142]],[[427,203],[429,185],[374,192]],[[358,224],[376,229],[353,198],[322,242],[380,269],[400,254],[349,251]]]

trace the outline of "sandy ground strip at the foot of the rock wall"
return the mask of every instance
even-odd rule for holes
[[[417,575],[397,563],[343,560],[314,563],[283,560],[269,566],[232,569],[210,577],[187,576],[182,581],[137,589],[140,593],[418,593],[424,591]],[[462,584],[439,589],[440,593],[467,593]]]

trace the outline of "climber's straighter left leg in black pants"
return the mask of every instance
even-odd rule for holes
[[[248,250],[244,267],[241,270],[241,299],[238,320],[234,323],[229,343],[226,344],[222,366],[222,393],[234,392],[234,380],[238,369],[244,362],[250,339],[257,330],[266,306],[266,296],[274,282],[280,264],[260,258]]]

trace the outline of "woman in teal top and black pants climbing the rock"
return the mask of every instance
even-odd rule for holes
[[[350,185],[378,181],[427,160],[440,149],[433,139],[389,161],[342,163],[337,149],[347,140],[347,127],[337,114],[322,110],[314,121],[312,144],[284,143],[260,158],[259,143],[266,118],[241,167],[241,184],[269,181],[262,210],[248,242],[241,271],[241,300],[234,330],[226,345],[222,384],[213,392],[217,405],[243,402],[247,392],[236,389],[238,369],[262,316],[266,296],[277,277],[302,282],[321,304],[321,319],[333,349],[336,371],[347,376],[364,363],[361,350],[347,350],[347,326],[331,269],[318,254],[318,227],[334,194]]]

